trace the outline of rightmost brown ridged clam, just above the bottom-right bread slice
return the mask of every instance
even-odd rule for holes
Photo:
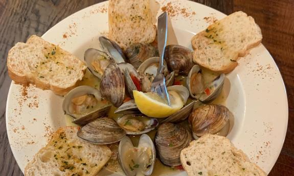
[[[207,133],[215,134],[219,132],[229,123],[229,118],[232,115],[229,109],[222,105],[205,105],[194,109],[189,116],[194,138]]]

